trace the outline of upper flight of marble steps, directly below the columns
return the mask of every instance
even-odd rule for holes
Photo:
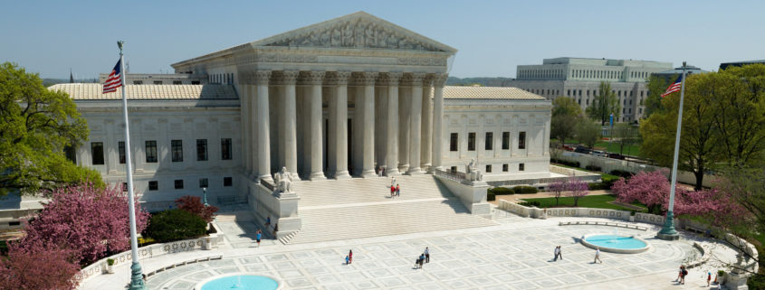
[[[390,197],[390,177],[352,178],[346,180],[301,181],[292,183],[301,197],[300,208],[393,201]],[[430,174],[400,175],[396,182],[401,196],[395,200],[419,200],[454,197],[446,187]]]

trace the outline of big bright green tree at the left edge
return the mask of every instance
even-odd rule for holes
[[[53,189],[100,174],[64,157],[65,146],[81,145],[88,126],[66,93],[50,91],[34,73],[0,64],[0,195]]]

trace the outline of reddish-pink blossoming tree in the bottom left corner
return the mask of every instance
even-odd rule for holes
[[[0,289],[74,289],[80,266],[72,260],[72,250],[43,248],[39,242],[19,247],[8,245],[8,256],[0,257]]]

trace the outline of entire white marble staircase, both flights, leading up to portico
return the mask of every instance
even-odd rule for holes
[[[390,197],[390,178],[295,182],[302,229],[281,239],[303,244],[448,229],[492,226],[471,215],[433,175],[397,176],[400,197]]]

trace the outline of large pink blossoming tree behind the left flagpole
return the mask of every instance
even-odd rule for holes
[[[72,250],[75,261],[90,264],[110,252],[129,248],[128,194],[119,185],[99,189],[92,184],[62,187],[31,220],[20,247]],[[136,229],[146,228],[148,212],[136,202]]]

